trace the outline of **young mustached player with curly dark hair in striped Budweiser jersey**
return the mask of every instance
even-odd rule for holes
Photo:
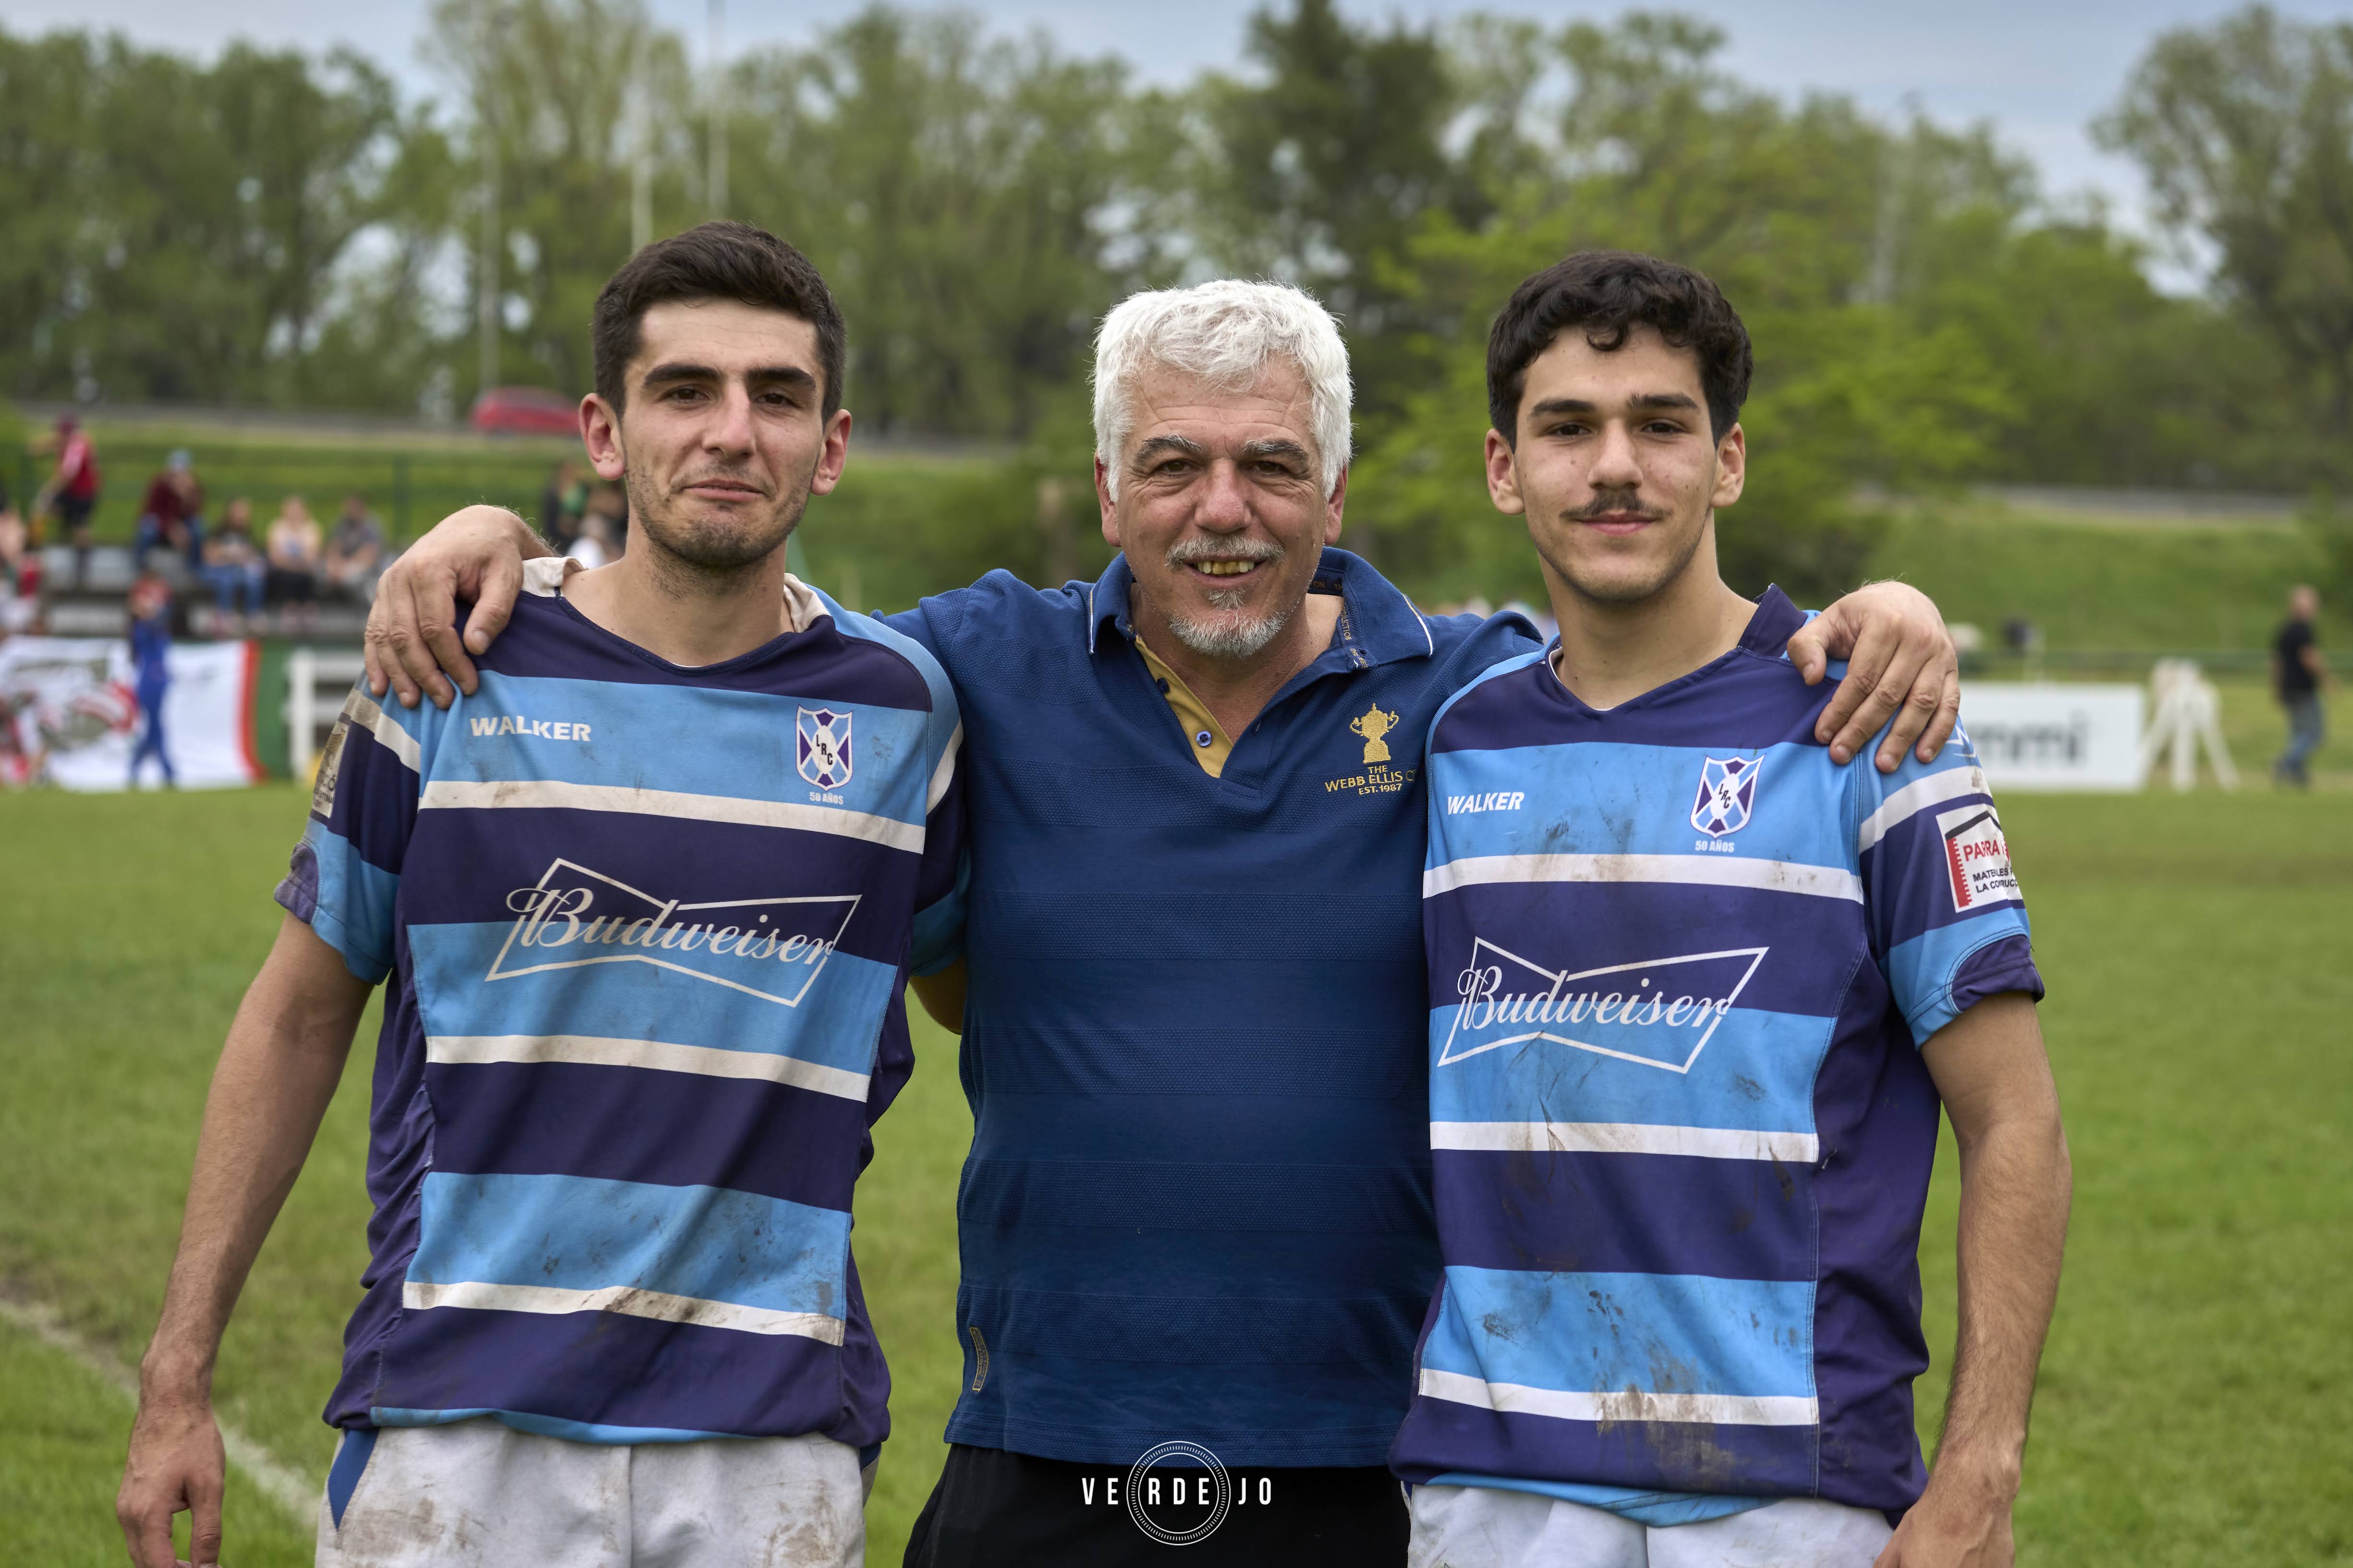
[[[1569,256],[1489,339],[1487,487],[1560,639],[1428,741],[1417,1566],[2012,1561],[2071,1192],[2042,980],[1967,738],[1835,766],[1800,611],[1715,571],[1748,374],[1715,284],[1652,256]],[[1960,1345],[1927,1474],[1939,1105]]]

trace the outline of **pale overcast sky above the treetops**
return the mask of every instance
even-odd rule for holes
[[[918,0],[920,5],[920,0]],[[1367,19],[1452,16],[1471,9],[1562,21],[1607,19],[1617,5],[1537,5],[1532,0],[1341,0]],[[652,0],[654,12],[704,49],[704,0]],[[355,45],[416,92],[438,82],[416,59],[431,0],[318,5],[306,0],[7,0],[9,31],[54,26],[120,28],[146,45],[212,54],[231,38],[325,49]],[[856,0],[729,0],[727,45],[744,49],[805,40],[842,21]],[[1118,52],[1151,80],[1176,82],[1205,66],[1235,66],[1252,0],[1111,5],[1101,0],[981,0],[967,5],[998,28],[1047,28],[1075,54]],[[1718,21],[1732,38],[1729,66],[1784,94],[1809,87],[1854,94],[1868,108],[1901,113],[1915,101],[1944,122],[1993,120],[2000,139],[2042,169],[2054,193],[2094,188],[2127,221],[2141,209],[2132,165],[2092,146],[2089,120],[2125,82],[2132,61],[2169,26],[2212,21],[2233,5],[2219,0],[1977,0],[1977,5],[1854,5],[1840,0],[1682,0],[1673,7]],[[2334,19],[2353,5],[2275,0],[2294,16]]]

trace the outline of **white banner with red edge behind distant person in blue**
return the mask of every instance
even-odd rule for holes
[[[252,642],[174,644],[162,745],[184,790],[261,783],[254,759]],[[0,639],[0,783],[122,790],[139,745],[132,644],[111,637]],[[144,788],[162,773],[146,762]]]

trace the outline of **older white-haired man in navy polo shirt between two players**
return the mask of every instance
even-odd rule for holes
[[[972,844],[965,957],[918,980],[974,1140],[962,1394],[908,1563],[1402,1561],[1384,1458],[1438,1276],[1419,750],[1537,639],[1334,548],[1348,353],[1306,294],[1139,294],[1094,390],[1104,576],[991,571],[889,618],[955,684]],[[402,557],[379,693],[471,689],[541,552],[471,508]],[[1894,752],[1941,743],[1951,644],[1913,590],[1791,651],[1857,656],[1842,757],[1906,696]]]

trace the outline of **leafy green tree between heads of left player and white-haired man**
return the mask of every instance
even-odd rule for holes
[[[866,428],[1031,437],[1104,310],[1172,270],[1118,61],[871,7],[746,61],[729,101],[741,212],[833,284]]]

